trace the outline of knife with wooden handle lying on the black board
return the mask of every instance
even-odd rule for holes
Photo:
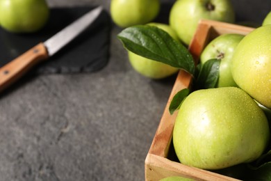
[[[45,42],[40,42],[13,61],[10,61],[10,63],[3,65],[3,67],[0,68],[0,92],[17,81],[17,79],[22,77],[28,70],[33,68],[33,66],[53,56],[58,50],[76,38],[76,36],[95,21],[102,10],[103,8],[101,6],[90,10],[89,13],[86,13],[72,24],[69,24],[69,26]]]

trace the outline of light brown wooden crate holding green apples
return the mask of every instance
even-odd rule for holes
[[[246,26],[201,20],[188,49],[195,59],[195,63],[197,63],[202,50],[208,42],[213,40],[213,38],[224,33],[239,33],[246,35],[252,30],[252,28]],[[176,157],[172,158],[174,157],[172,156],[174,155],[174,148],[172,148],[172,131],[177,111],[175,111],[173,115],[170,115],[168,109],[174,95],[181,89],[188,88],[190,86],[190,81],[190,74],[180,70],[167,101],[161,122],[156,130],[154,140],[151,143],[151,148],[145,159],[145,180],[156,181],[169,176],[181,176],[192,180],[208,181],[236,180],[211,171],[183,165],[177,161]]]

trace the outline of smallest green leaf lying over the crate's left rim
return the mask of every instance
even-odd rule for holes
[[[189,92],[190,91],[188,88],[184,88],[174,95],[172,101],[170,102],[170,108],[169,108],[170,114],[173,114],[174,111],[176,111],[177,109],[181,107],[181,103],[189,95]]]

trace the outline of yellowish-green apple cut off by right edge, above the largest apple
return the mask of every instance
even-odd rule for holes
[[[236,84],[271,108],[271,24],[249,33],[236,47],[231,73]]]

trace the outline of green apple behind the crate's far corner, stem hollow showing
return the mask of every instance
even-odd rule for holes
[[[231,1],[179,0],[174,3],[170,10],[170,26],[186,45],[192,40],[200,19],[233,23],[235,13]]]

